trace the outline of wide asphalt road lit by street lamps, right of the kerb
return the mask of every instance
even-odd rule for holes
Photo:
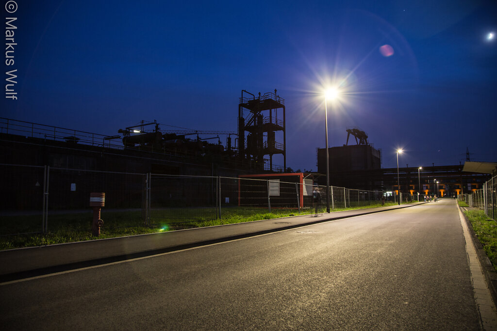
[[[479,330],[453,200],[0,285],[3,330]]]

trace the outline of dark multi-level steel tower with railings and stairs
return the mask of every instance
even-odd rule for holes
[[[251,97],[248,97],[248,94]],[[247,141],[245,132],[248,132]],[[276,142],[276,132],[282,132],[283,144]],[[240,157],[252,161],[258,170],[286,170],[285,100],[276,94],[276,89],[274,93],[268,92],[264,95],[259,92],[258,97],[242,90],[238,105],[238,139]],[[274,154],[283,154],[283,169],[273,165]],[[269,155],[269,160],[264,159],[265,155]]]

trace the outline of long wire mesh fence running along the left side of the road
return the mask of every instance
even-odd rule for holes
[[[106,229],[171,230],[223,224],[233,217],[275,218],[280,213],[312,213],[316,203],[323,212],[326,187],[313,184],[312,180],[302,183],[0,164],[0,236],[90,231],[90,193],[100,192],[105,193],[101,218]],[[315,188],[321,194],[320,201],[313,199]],[[395,193],[332,186],[330,194],[331,209],[397,203],[399,199]]]

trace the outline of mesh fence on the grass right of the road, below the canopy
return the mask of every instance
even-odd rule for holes
[[[482,209],[485,214],[493,219],[497,216],[497,176],[492,177],[483,184],[483,189],[471,194],[461,194],[458,199],[465,201],[470,207]]]

